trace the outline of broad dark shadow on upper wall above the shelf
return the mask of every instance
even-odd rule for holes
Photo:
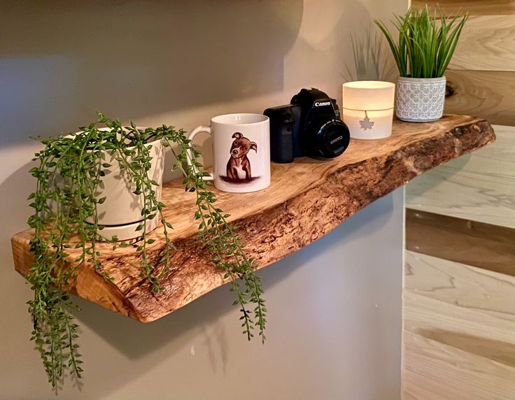
[[[73,131],[95,109],[137,119],[281,90],[302,0],[3,1],[0,13],[5,145]]]

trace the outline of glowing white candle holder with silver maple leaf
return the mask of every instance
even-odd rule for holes
[[[381,139],[392,134],[395,84],[358,80],[343,85],[344,122],[351,138]]]

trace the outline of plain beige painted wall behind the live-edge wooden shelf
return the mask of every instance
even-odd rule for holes
[[[3,1],[0,399],[54,398],[29,342],[10,236],[33,189],[27,138],[107,115],[192,129],[301,87],[341,103],[349,35],[404,0]],[[350,73],[347,66],[350,69]],[[209,141],[205,148],[209,149]],[[206,150],[208,151],[208,150]],[[208,160],[209,162],[209,157]],[[269,341],[247,343],[227,287],[152,324],[78,300],[85,377],[63,399],[398,399],[402,193],[262,271]]]

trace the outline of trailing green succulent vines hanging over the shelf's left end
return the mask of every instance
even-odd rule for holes
[[[50,384],[55,387],[68,371],[80,378],[83,369],[78,352],[78,325],[73,320],[76,306],[64,292],[77,276],[78,267],[89,264],[97,273],[110,280],[102,269],[99,243],[112,243],[113,250],[132,245],[140,259],[141,275],[148,280],[149,290],[160,295],[160,278],[169,268],[169,257],[174,245],[169,239],[171,223],[163,215],[164,203],[156,197],[157,182],[149,178],[149,143],[161,141],[176,157],[175,170],[183,173],[185,190],[195,192],[195,219],[199,222],[199,241],[213,255],[213,264],[224,278],[229,278],[230,290],[237,299],[234,305],[241,310],[244,334],[251,340],[254,328],[264,342],[267,309],[262,298],[259,276],[253,272],[255,260],[247,257],[244,243],[235,228],[227,223],[229,215],[216,207],[216,197],[209,190],[209,182],[202,180],[206,173],[199,172],[200,152],[192,149],[182,129],[162,127],[139,129],[131,122],[123,127],[119,120],[110,120],[97,112],[97,121],[80,127],[78,133],[52,138],[38,136],[43,150],[36,153],[38,166],[30,170],[37,181],[36,191],[30,194],[33,214],[29,227],[34,229],[30,250],[34,255],[27,280],[34,291],[34,299],[28,302],[34,323],[31,340],[41,355]],[[180,150],[177,150],[180,149]],[[120,169],[135,184],[134,194],[143,197],[141,210],[143,222],[136,228],[139,238],[118,241],[101,234],[97,206],[105,197],[97,197],[105,170],[111,164],[105,162],[106,152],[115,156]],[[191,165],[186,161],[188,158]],[[164,250],[157,262],[147,257],[147,222],[160,219],[164,236]],[[86,222],[89,220],[90,222]],[[70,249],[78,257],[71,257]],[[253,307],[253,309],[252,309]]]

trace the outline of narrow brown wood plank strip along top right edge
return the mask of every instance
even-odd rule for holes
[[[414,7],[441,8],[444,13],[464,13],[472,15],[513,15],[515,0],[411,0]]]

